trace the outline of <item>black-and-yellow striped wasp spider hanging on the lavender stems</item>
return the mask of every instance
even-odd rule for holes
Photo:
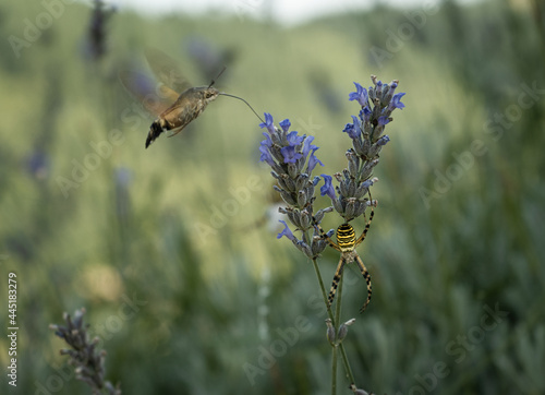
[[[360,309],[360,313],[363,313],[365,311],[365,308],[371,301],[371,295],[373,294],[371,287],[371,275],[367,272],[367,267],[365,267],[365,265],[363,264],[362,259],[360,258],[360,255],[358,255],[355,249],[362,243],[363,240],[365,240],[365,236],[367,235],[367,230],[370,230],[374,214],[375,212],[373,211],[373,205],[371,205],[370,220],[365,225],[365,229],[363,229],[362,236],[360,236],[358,239],[355,238],[355,231],[352,225],[346,223],[339,226],[337,228],[337,242],[332,241],[331,238],[326,235],[319,224],[317,224],[316,222],[314,223],[314,226],[319,230],[322,238],[324,238],[329,246],[341,253],[339,264],[337,265],[337,271],[335,272],[334,283],[331,284],[331,290],[329,291],[329,297],[327,299],[328,307],[331,307],[331,303],[334,302],[335,292],[337,291],[337,287],[339,286],[344,265],[351,262],[355,262],[358,264],[358,267],[360,267],[360,271],[362,272],[363,278],[365,278],[365,283],[367,283],[367,300]]]

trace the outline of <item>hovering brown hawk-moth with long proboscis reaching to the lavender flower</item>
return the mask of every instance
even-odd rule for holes
[[[257,116],[252,106],[243,98],[226,94],[213,87],[214,80],[208,86],[191,87],[181,76],[175,62],[167,55],[158,50],[147,50],[146,58],[152,70],[161,82],[155,95],[150,93],[143,95],[145,91],[149,91],[149,86],[147,88],[138,86],[146,84],[146,79],[142,75],[134,72],[120,73],[123,85],[141,98],[144,107],[157,117],[149,127],[146,137],[146,148],[164,132],[168,132],[169,137],[180,133],[205,110],[209,103],[214,101],[220,95],[234,97],[244,101]],[[218,77],[223,71],[225,68],[218,74]],[[178,91],[182,93],[178,94],[170,86],[178,87]]]

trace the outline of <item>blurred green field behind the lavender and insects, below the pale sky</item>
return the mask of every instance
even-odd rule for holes
[[[290,28],[116,12],[100,56],[92,8],[62,4],[32,40],[24,21],[45,7],[0,5],[0,292],[5,301],[15,272],[21,328],[17,387],[3,375],[1,393],[89,393],[48,328],[81,307],[124,394],[330,393],[312,264],[253,225],[272,181],[258,165],[259,121],[219,97],[184,133],[144,149],[153,117],[118,72],[152,75],[145,48],[167,52],[195,85],[226,64],[218,88],[316,137],[325,167],[315,173],[346,166],[352,82],[399,80],[407,107],[386,129],[379,205],[359,248],[374,289],[364,315],[365,284],[353,267],[346,276],[356,384],[545,393],[543,2],[376,5]],[[319,262],[326,287],[337,261],[328,249]],[[8,348],[3,336],[3,367]]]

